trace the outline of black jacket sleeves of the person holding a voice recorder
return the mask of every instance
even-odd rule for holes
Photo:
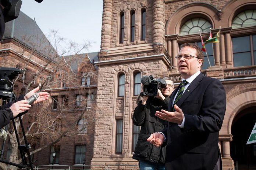
[[[11,105],[13,103],[20,101],[20,100],[25,100],[23,94],[21,94],[17,99],[15,99],[3,106],[0,106],[0,128],[7,125],[10,122],[10,120],[13,119],[13,112],[11,111],[11,109],[9,107],[11,107]]]

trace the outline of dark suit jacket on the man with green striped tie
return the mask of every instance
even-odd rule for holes
[[[170,96],[168,111],[179,87]],[[225,90],[215,78],[199,74],[179,99],[185,127],[168,122],[166,170],[213,170],[220,155],[218,131],[226,110]]]

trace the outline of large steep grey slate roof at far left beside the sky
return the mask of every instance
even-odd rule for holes
[[[19,12],[18,18],[6,23],[3,40],[9,38],[17,40],[46,58],[56,53],[36,22],[22,11]]]

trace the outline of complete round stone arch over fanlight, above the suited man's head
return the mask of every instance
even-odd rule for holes
[[[179,34],[179,29],[183,23],[191,18],[204,18],[215,28],[218,19],[218,9],[206,3],[191,3],[179,8],[170,16],[166,23],[166,35]]]

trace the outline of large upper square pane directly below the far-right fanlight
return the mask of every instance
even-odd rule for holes
[[[232,38],[233,53],[250,51],[250,37]]]

